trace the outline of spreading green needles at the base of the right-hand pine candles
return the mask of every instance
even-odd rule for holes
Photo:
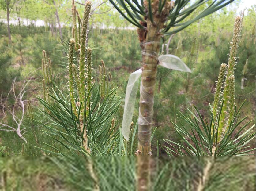
[[[222,111],[222,106],[220,112]],[[245,125],[242,125],[243,121],[247,119],[247,117],[240,119],[239,111],[242,106],[235,112],[234,119],[228,124],[227,132],[224,133],[224,135],[222,132],[221,135],[219,135],[218,132],[220,118],[216,121],[212,115],[210,122],[207,122],[202,118],[195,106],[195,114],[188,109],[186,110],[186,115],[180,113],[178,116],[181,120],[181,126],[175,124],[175,130],[180,135],[182,142],[179,144],[166,139],[165,141],[170,146],[170,148],[164,146],[167,154],[189,156],[243,156],[255,150],[255,148],[248,149],[251,146],[247,146],[248,142],[255,139],[255,131],[253,130],[255,125],[242,132],[251,122],[249,121]],[[190,129],[186,129],[182,121],[189,124]],[[211,132],[213,132],[213,134],[211,134]],[[240,132],[242,133],[240,134]],[[223,136],[223,139],[219,141],[217,139],[218,136]],[[218,145],[215,152],[212,150],[214,145]]]

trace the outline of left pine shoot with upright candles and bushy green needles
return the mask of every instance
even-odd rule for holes
[[[73,6],[73,12],[74,9],[75,6]],[[49,94],[53,100],[51,103],[49,99],[39,98],[47,109],[47,112],[42,112],[51,121],[51,124],[39,123],[47,129],[44,132],[61,146],[45,143],[50,149],[40,149],[65,156],[127,155],[128,153],[125,153],[126,150],[123,148],[122,133],[120,130],[116,131],[115,125],[117,124],[112,120],[121,103],[120,99],[115,98],[117,88],[106,90],[103,99],[100,96],[100,86],[94,87],[92,82],[93,51],[92,48],[85,47],[90,9],[91,2],[87,1],[81,22],[81,39],[78,43],[78,47],[81,48],[77,51],[76,39],[71,38],[69,42],[69,88],[60,90],[55,85],[55,88],[52,88],[53,94]],[[75,59],[76,56],[77,59]],[[42,63],[44,63],[44,59]],[[45,71],[46,67],[43,66]],[[106,76],[104,64],[102,69],[102,75]],[[47,88],[44,89],[45,95]],[[134,151],[132,150],[132,152]]]

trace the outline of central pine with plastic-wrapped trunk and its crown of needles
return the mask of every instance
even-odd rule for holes
[[[119,13],[130,23],[135,25],[139,41],[141,43],[142,53],[142,74],[139,102],[138,119],[138,155],[151,155],[151,129],[153,117],[154,92],[156,86],[156,68],[158,64],[158,55],[160,49],[161,36],[168,36],[177,33],[194,21],[207,16],[222,7],[228,5],[233,0],[219,0],[208,3],[202,1],[162,1],[162,0],[144,0],[129,1],[109,0]],[[188,3],[191,2],[189,5]],[[192,18],[188,16],[200,5],[207,6],[201,13]],[[188,5],[188,6],[186,6]],[[120,8],[127,14],[125,14]],[[186,19],[187,18],[187,19]],[[185,21],[184,21],[185,20]],[[139,191],[149,189],[149,159],[138,158],[138,181],[137,189]],[[141,161],[140,161],[141,160]],[[144,162],[143,162],[144,161]],[[143,171],[141,171],[143,170]]]

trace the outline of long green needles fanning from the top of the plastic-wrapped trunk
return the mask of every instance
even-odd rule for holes
[[[123,1],[123,0],[119,0],[117,1],[117,3],[115,3],[113,0],[109,0],[109,1],[126,20],[128,20],[130,23],[132,23],[136,27],[139,27],[142,29],[144,27],[141,25],[141,23],[139,23],[139,21],[145,22],[145,16],[148,16],[151,22],[153,23],[154,22],[153,12],[154,14],[156,14],[157,12],[158,15],[161,15],[163,14],[163,12],[167,11],[168,12],[167,18],[166,18],[167,22],[166,22],[166,26],[163,29],[163,32],[165,35],[171,35],[183,30],[184,28],[188,27],[190,24],[201,19],[202,17],[205,17],[221,9],[222,7],[225,7],[226,5],[231,3],[233,0],[230,0],[230,1],[220,0],[220,1],[209,3],[209,4],[208,4],[208,1],[196,1],[191,4],[188,4],[189,1],[175,1],[175,3],[158,1],[158,2],[153,2],[151,4],[150,0],[145,1],[145,3],[144,2],[139,3],[136,0],[134,1],[135,5],[129,1]],[[124,9],[124,11],[119,8],[118,4]],[[158,7],[157,11],[156,10],[152,11],[153,4],[155,7]],[[156,6],[156,4],[158,5]],[[166,10],[166,7],[164,7],[165,4],[168,4],[167,5],[168,10]],[[189,6],[186,6],[187,4]],[[203,11],[198,13],[198,15],[194,16],[194,18],[189,18],[188,20],[186,20],[186,18],[192,12],[194,12],[196,9],[199,9],[200,5],[207,6],[207,8],[203,9]],[[145,8],[148,9],[147,10],[148,13],[145,12]],[[126,12],[127,15],[124,12]],[[185,19],[185,22],[183,22],[184,19]],[[168,32],[171,27],[178,27],[178,28],[175,28],[174,30]]]

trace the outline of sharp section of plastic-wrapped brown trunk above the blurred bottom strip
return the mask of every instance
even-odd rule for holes
[[[151,128],[154,105],[154,92],[156,86],[157,57],[160,49],[160,29],[164,22],[161,18],[147,22],[148,32],[145,43],[141,45],[143,64],[140,87],[139,127],[138,127],[138,150],[139,154],[146,156],[151,152]]]

